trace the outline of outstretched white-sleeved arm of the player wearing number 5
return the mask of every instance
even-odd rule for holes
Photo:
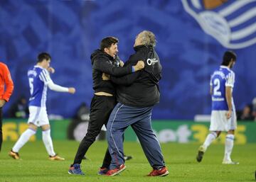
[[[41,74],[39,75],[39,78],[49,87],[52,91],[58,91],[58,92],[68,92],[68,93],[75,93],[75,88],[73,87],[65,87],[60,86],[58,84],[54,84],[53,80],[50,79],[50,74],[46,69],[43,69]]]

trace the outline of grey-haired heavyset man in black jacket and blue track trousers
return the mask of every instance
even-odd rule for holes
[[[107,176],[124,171],[124,152],[122,135],[131,125],[142,144],[144,154],[153,170],[149,176],[166,176],[167,171],[159,141],[151,127],[151,111],[159,103],[159,80],[161,64],[154,50],[154,33],[142,31],[134,44],[135,54],[129,57],[124,67],[130,67],[136,60],[144,60],[143,70],[126,76],[110,76],[117,86],[117,106],[114,107],[107,123],[107,140],[112,161]],[[104,78],[104,79],[107,79]]]

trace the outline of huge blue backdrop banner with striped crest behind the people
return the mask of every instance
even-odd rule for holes
[[[163,65],[161,101],[154,119],[193,119],[210,113],[210,74],[223,52],[234,50],[235,105],[256,96],[256,1],[0,1],[0,61],[14,79],[14,96],[29,97],[26,72],[39,52],[49,52],[56,84],[77,93],[48,91],[48,113],[72,117],[81,102],[90,106],[90,54],[106,36],[119,38],[119,57],[134,52],[136,35],[151,30]]]

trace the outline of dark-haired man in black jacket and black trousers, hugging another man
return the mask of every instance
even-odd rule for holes
[[[73,164],[68,170],[69,174],[84,175],[80,169],[82,157],[89,149],[90,145],[95,142],[99,135],[102,125],[107,125],[110,113],[116,105],[115,88],[111,81],[103,81],[102,73],[112,76],[124,76],[132,72],[137,72],[144,68],[144,62],[139,61],[135,66],[117,67],[119,60],[114,59],[117,55],[117,38],[107,37],[102,39],[100,50],[95,50],[91,55],[92,60],[92,80],[94,96],[90,105],[90,121],[87,128],[87,134],[80,142],[78,152],[75,155]],[[106,166],[109,166],[111,156],[108,150],[105,155]],[[103,164],[104,166],[105,164]]]

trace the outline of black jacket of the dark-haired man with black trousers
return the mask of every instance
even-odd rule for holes
[[[95,50],[91,55],[93,89],[96,92],[104,91],[115,94],[115,88],[111,81],[102,80],[102,73],[112,76],[124,76],[132,73],[132,66],[118,67],[117,60],[101,50]]]

